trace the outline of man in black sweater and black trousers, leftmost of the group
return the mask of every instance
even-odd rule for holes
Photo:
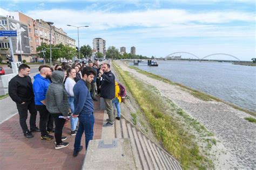
[[[19,123],[23,130],[24,136],[26,138],[32,138],[33,132],[40,132],[36,127],[36,114],[34,94],[32,89],[32,82],[29,76],[30,67],[28,65],[22,64],[19,66],[19,73],[9,82],[9,96],[16,103],[19,112]],[[28,118],[28,110],[30,112],[30,130],[28,130],[28,125],[26,125],[26,118]]]

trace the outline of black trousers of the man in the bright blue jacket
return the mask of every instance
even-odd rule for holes
[[[36,105],[36,110],[39,111],[40,121],[39,121],[39,129],[41,131],[41,136],[45,136],[48,134],[46,132],[46,125],[49,118],[49,111],[46,109],[45,105]]]

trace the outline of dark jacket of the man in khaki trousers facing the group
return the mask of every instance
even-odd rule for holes
[[[102,75],[102,84],[100,88],[100,97],[113,99],[114,98],[114,74],[109,71]]]

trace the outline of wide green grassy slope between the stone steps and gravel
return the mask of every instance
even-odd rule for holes
[[[179,124],[177,119],[168,114],[162,102],[163,98],[157,95],[159,91],[155,87],[136,79],[129,72],[122,70],[114,62],[113,66],[117,74],[122,77],[126,88],[129,89],[139,104],[157,139],[169,153],[177,158],[181,166],[184,169],[213,168],[212,161],[200,153],[198,145],[192,139],[193,136],[183,129],[183,125]],[[171,101],[169,103],[172,105],[174,114],[186,117],[183,110],[177,109]],[[134,115],[132,118],[134,119]],[[187,119],[190,119],[191,126],[198,127],[198,131],[206,130],[193,118],[187,117]]]

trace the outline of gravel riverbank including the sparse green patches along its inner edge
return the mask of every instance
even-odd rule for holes
[[[153,79],[129,68],[122,61],[114,61],[114,63],[127,71],[126,74],[131,74],[133,79],[154,87],[150,90],[154,96],[152,98],[158,94],[159,105],[156,105],[156,108],[163,108],[160,110],[161,114],[169,115],[174,122],[177,122],[179,128],[188,133],[188,136],[194,136],[190,138],[191,141],[199,146],[200,154],[213,161],[215,168],[253,168],[255,166],[256,126],[244,119],[250,117],[246,112],[219,101],[201,100],[193,96],[188,89]],[[160,113],[154,113],[154,119],[157,119],[157,116],[163,116]],[[211,132],[215,134],[214,137],[211,137]]]

